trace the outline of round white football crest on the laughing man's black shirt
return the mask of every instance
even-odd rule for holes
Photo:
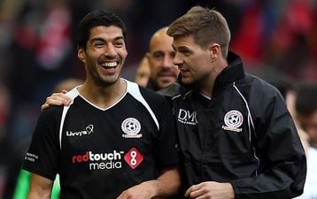
[[[128,118],[123,120],[121,123],[121,129],[124,134],[122,137],[124,138],[140,138],[142,134],[139,134],[141,131],[141,124],[137,119]]]

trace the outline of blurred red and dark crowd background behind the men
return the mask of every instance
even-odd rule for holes
[[[117,13],[136,65],[158,28],[193,5],[216,8],[231,29],[231,50],[266,80],[317,81],[317,0],[0,0],[0,199],[12,198],[41,104],[61,80],[84,79],[76,27],[87,12]]]

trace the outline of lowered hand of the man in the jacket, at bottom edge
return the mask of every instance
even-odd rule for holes
[[[188,198],[233,199],[234,190],[230,183],[205,181],[191,186],[185,193]]]

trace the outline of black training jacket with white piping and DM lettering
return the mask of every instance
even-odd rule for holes
[[[230,182],[236,199],[302,194],[305,152],[282,96],[236,54],[228,63],[211,99],[176,84],[160,91],[172,97],[184,190],[213,180]]]

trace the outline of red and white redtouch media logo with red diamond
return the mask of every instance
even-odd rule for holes
[[[135,169],[143,162],[143,155],[137,149],[131,148],[126,154],[123,150],[112,150],[107,153],[86,151],[84,154],[72,157],[73,164],[88,163],[89,170],[120,169],[123,160],[131,169]]]

